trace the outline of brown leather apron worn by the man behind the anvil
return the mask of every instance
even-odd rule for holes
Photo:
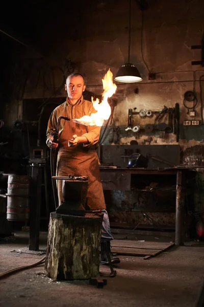
[[[68,147],[68,140],[74,134],[82,136],[87,133],[86,126],[64,121],[64,128],[59,139],[57,158],[57,176],[88,176],[87,210],[106,209],[104,192],[100,180],[99,160],[95,149],[77,144]],[[63,201],[62,180],[57,180],[59,205]]]

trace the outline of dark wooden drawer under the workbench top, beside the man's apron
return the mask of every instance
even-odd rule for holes
[[[131,174],[116,172],[100,172],[101,182],[104,190],[121,190],[131,189]]]

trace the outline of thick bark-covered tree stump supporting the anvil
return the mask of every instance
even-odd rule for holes
[[[50,213],[46,276],[58,280],[99,275],[101,224],[104,214],[74,216]]]

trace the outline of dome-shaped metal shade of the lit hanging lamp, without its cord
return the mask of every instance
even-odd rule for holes
[[[125,63],[118,70],[114,80],[123,83],[135,83],[141,81],[142,78],[134,64]]]

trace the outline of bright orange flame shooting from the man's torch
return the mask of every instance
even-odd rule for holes
[[[73,122],[78,124],[83,124],[86,126],[102,126],[104,120],[109,119],[111,115],[111,107],[108,103],[108,98],[112,97],[113,94],[115,94],[117,86],[113,83],[113,74],[108,70],[107,74],[105,75],[104,79],[102,79],[103,82],[103,100],[99,104],[99,99],[96,98],[96,100],[93,100],[93,97],[91,97],[91,101],[93,103],[94,109],[97,111],[96,113],[92,113],[90,116],[85,115],[81,118],[73,119]]]

